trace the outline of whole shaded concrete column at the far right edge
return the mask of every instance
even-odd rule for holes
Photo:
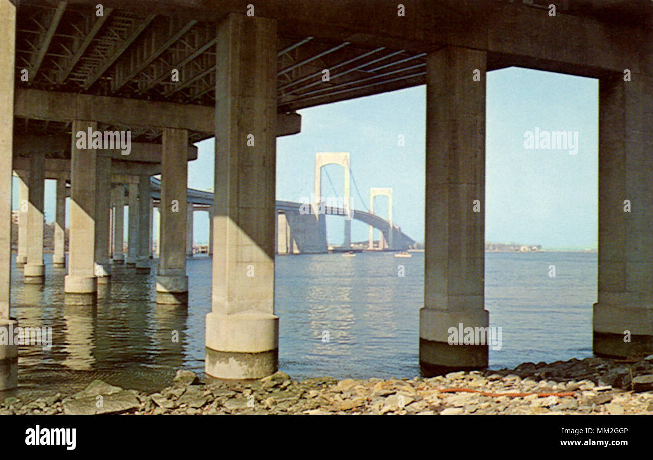
[[[653,353],[652,110],[653,76],[599,80],[598,356]]]

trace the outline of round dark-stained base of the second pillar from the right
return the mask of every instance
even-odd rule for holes
[[[484,343],[450,345],[449,328],[458,331],[462,324],[462,328],[471,327],[475,330],[475,328],[488,328],[489,322],[490,314],[487,310],[422,308],[419,312],[419,363],[424,374],[437,375],[487,367],[488,339],[485,338]]]

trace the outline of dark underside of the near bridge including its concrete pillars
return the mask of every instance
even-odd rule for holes
[[[549,3],[557,7],[555,16]],[[18,7],[0,0],[0,328],[16,323],[9,302],[12,168],[27,168],[21,179],[27,211],[19,215],[29,230],[24,277],[39,283],[42,180],[48,161],[70,155],[69,177],[57,187],[65,191],[63,181],[70,181],[64,288],[67,303],[88,304],[97,299],[97,283],[110,279],[109,209],[119,214],[124,193],[112,206],[109,170],[114,160],[125,160],[103,155],[106,146],[77,143],[78,134],[129,132],[132,142],[157,144],[157,301],[185,305],[188,147],[215,136],[206,373],[258,378],[274,372],[276,136],[298,132],[296,110],[426,84],[420,360],[431,370],[484,367],[487,346],[451,345],[447,330],[460,323],[488,326],[485,77],[488,70],[519,65],[599,79],[594,351],[653,352],[650,1],[407,0],[402,14],[396,4],[372,0],[270,0],[255,5],[251,16],[247,5],[106,0],[100,12],[91,0],[29,0]],[[24,136],[66,136],[70,153],[38,147],[13,164]],[[148,206],[138,202],[150,196],[151,164],[144,163],[129,179],[129,207],[138,206],[129,217],[130,235],[144,234],[149,217]],[[480,212],[473,210],[475,200]],[[631,212],[624,213],[624,200]],[[60,219],[57,213],[59,226]],[[143,239],[132,241],[136,253],[127,257],[136,266]],[[0,345],[0,389],[16,386],[17,353]]]

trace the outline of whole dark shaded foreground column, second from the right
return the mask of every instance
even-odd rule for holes
[[[473,81],[475,70],[481,81]],[[449,328],[486,328],[486,53],[447,46],[426,73],[426,260],[419,360],[425,371],[486,367],[488,346],[449,345]],[[474,200],[481,211],[473,212]],[[462,324],[462,326],[461,326]]]

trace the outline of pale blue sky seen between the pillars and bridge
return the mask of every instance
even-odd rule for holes
[[[488,72],[486,78],[486,241],[596,249],[597,80],[517,67]],[[277,141],[276,198],[308,199],[315,153],[349,152],[353,207],[370,207],[370,187],[391,187],[394,223],[424,241],[426,87],[298,113],[302,132]],[[577,132],[577,153],[571,155],[569,148],[526,148],[526,133],[536,129]],[[399,145],[400,136],[404,146]],[[214,140],[197,146],[198,159],[188,166],[189,187],[212,189]],[[322,184],[323,196],[342,197],[343,168],[325,166]],[[14,179],[14,209],[17,189]],[[48,222],[54,220],[54,198],[54,181],[48,180]],[[377,197],[374,207],[375,213],[387,217],[387,198]],[[194,221],[195,243],[206,243],[208,213],[195,213]],[[343,219],[328,217],[327,227],[329,243],[342,243]],[[368,226],[362,222],[352,221],[351,232],[352,241],[368,238]]]

